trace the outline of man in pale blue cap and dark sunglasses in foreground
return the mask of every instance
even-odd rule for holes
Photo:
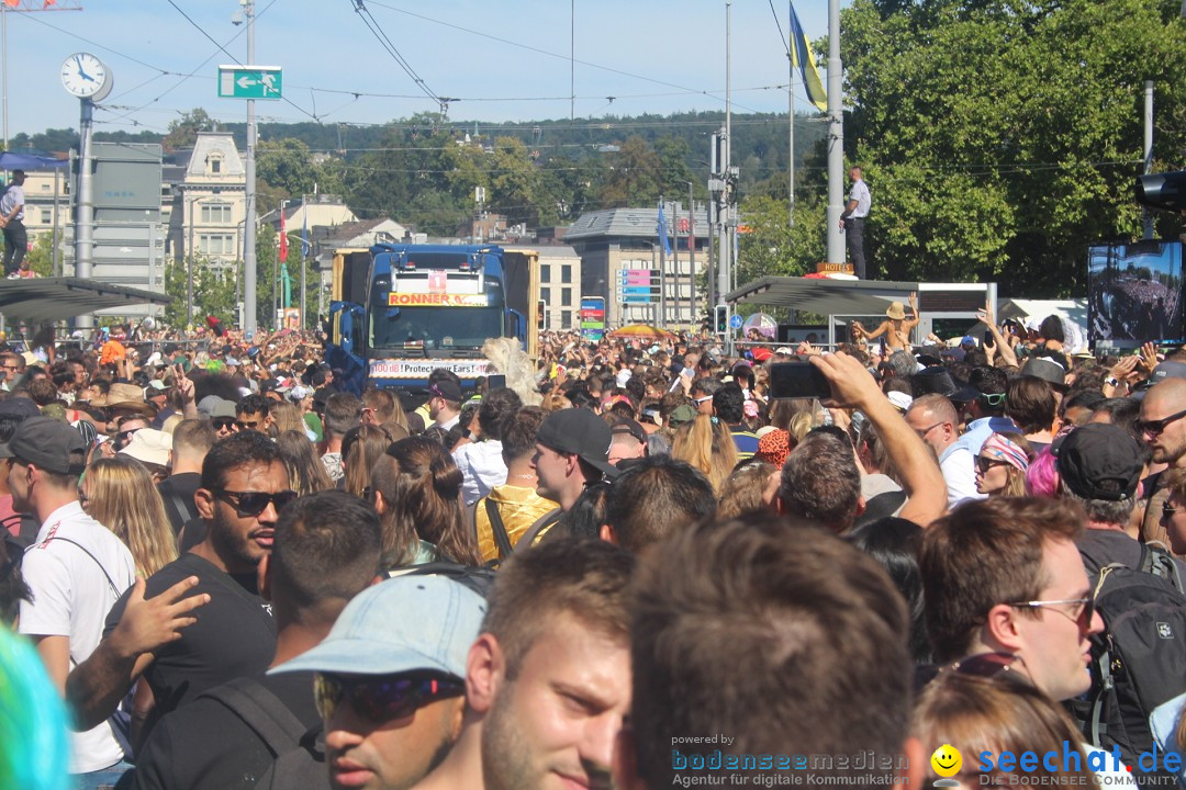
[[[445,759],[461,732],[466,659],[485,612],[482,596],[453,579],[395,577],[359,593],[325,641],[273,670],[314,673],[329,786],[406,790]],[[259,786],[308,786],[291,778],[301,762],[306,773],[326,770],[281,758]]]

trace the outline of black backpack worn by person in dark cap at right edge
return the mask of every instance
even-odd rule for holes
[[[1143,752],[1162,753],[1152,718],[1163,715],[1167,705],[1180,705],[1177,698],[1186,692],[1182,580],[1168,552],[1141,544],[1139,569],[1101,567],[1093,598],[1104,630],[1091,637],[1091,689],[1069,707],[1089,743],[1104,750],[1118,746],[1124,763],[1136,766]],[[1141,783],[1156,783],[1160,776],[1172,776],[1160,759],[1156,772],[1133,772]]]

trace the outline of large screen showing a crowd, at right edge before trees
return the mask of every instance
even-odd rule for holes
[[[1088,326],[1097,345],[1182,342],[1181,242],[1088,248]]]

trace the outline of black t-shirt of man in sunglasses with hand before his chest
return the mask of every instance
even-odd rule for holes
[[[157,699],[145,722],[146,736],[160,717],[208,688],[259,675],[276,650],[272,606],[260,597],[254,573],[232,577],[187,553],[148,578],[145,597],[153,598],[191,576],[198,577],[198,585],[190,595],[210,593],[210,602],[195,611],[198,622],[181,629],[181,638],[157,650],[144,674]],[[119,624],[129,595],[123,593],[111,608],[103,636]]]

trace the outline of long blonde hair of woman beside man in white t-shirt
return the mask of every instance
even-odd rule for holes
[[[152,576],[177,559],[177,538],[165,502],[142,463],[127,455],[87,467],[87,512],[132,552],[136,574]]]

